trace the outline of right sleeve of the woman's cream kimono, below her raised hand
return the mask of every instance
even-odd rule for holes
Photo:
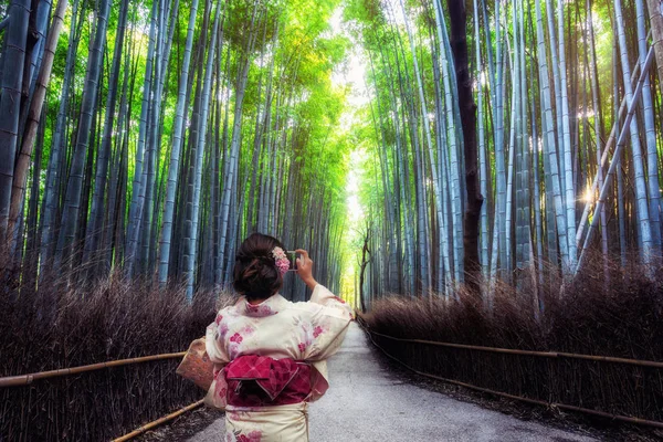
[[[312,313],[313,345],[306,359],[324,360],[334,355],[352,320],[352,309],[323,285],[316,285],[311,296],[312,304],[318,304]]]

